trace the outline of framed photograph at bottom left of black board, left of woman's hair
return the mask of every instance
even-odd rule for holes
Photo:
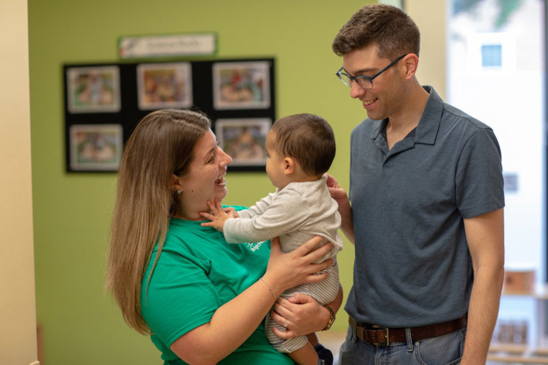
[[[116,171],[122,157],[122,125],[71,125],[73,171]]]

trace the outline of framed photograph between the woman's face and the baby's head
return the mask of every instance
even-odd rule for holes
[[[230,157],[230,166],[266,166],[266,134],[270,118],[217,119],[217,142]]]

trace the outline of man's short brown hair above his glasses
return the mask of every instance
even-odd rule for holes
[[[373,44],[379,57],[395,60],[406,53],[419,55],[421,34],[412,18],[395,6],[366,5],[340,28],[332,48],[345,55]]]

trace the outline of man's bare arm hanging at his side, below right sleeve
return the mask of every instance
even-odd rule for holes
[[[464,219],[474,269],[461,364],[485,364],[504,277],[503,209]]]

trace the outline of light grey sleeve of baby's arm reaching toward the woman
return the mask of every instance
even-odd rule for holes
[[[263,202],[265,199],[268,199],[268,205]],[[301,201],[301,194],[288,188],[269,194],[251,207],[257,207],[254,212],[259,214],[251,218],[227,219],[223,227],[225,240],[229,243],[260,242],[299,229],[308,216],[308,209],[299,207]]]

